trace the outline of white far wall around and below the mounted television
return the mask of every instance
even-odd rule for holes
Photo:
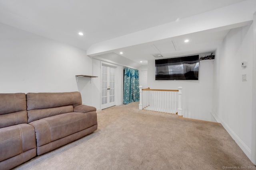
[[[200,55],[204,56],[204,55]],[[155,61],[148,61],[148,86],[151,89],[182,89],[182,115],[191,119],[216,121],[212,110],[213,62],[200,61],[199,80],[155,80]]]

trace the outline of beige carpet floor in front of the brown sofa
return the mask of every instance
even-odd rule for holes
[[[98,130],[16,170],[212,170],[254,166],[222,125],[138,109],[98,112]],[[256,168],[256,167],[254,167]]]

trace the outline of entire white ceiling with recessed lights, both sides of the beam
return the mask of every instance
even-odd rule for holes
[[[94,43],[242,1],[0,0],[0,22],[87,50]],[[84,35],[79,36],[79,31]],[[228,31],[201,31],[113,52],[123,51],[123,57],[142,64],[154,59],[152,54],[159,51],[164,57],[208,53],[216,49]],[[185,38],[190,42],[184,43]]]

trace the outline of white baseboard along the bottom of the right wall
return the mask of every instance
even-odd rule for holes
[[[212,116],[218,123],[221,123],[224,129],[229,133],[229,135],[234,139],[236,144],[242,149],[246,156],[251,159],[252,151],[245,145],[245,143],[234,133],[234,131],[228,126],[228,124],[223,121],[214,111],[211,112]]]

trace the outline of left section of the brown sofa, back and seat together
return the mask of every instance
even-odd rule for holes
[[[26,94],[0,94],[0,169],[36,156],[36,134],[28,124]]]

